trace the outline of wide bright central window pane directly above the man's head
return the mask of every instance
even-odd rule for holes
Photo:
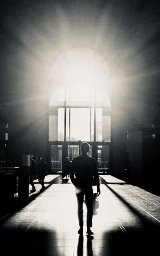
[[[90,141],[90,108],[70,109],[70,140]]]

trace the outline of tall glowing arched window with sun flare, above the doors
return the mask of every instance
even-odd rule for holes
[[[49,103],[49,141],[110,141],[109,68],[102,56],[69,50],[54,62],[51,75],[58,89]]]

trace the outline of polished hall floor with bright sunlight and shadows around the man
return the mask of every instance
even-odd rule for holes
[[[0,219],[1,256],[157,255],[160,251],[160,196],[100,175],[101,194],[93,187],[94,234],[80,236],[74,186],[61,175],[48,175],[46,189],[29,194]],[[31,189],[31,188],[30,188]],[[86,205],[84,201],[84,223]]]

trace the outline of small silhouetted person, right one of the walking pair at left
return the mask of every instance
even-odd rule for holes
[[[41,184],[42,188],[40,189],[41,191],[44,190],[44,178],[46,176],[46,162],[45,158],[41,157],[40,162],[37,164],[38,167],[38,182]]]

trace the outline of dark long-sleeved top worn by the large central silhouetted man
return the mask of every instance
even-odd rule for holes
[[[94,158],[88,156],[86,160],[82,156],[73,158],[70,166],[70,179],[75,186],[93,186],[93,178],[97,186],[100,186],[98,169]]]

